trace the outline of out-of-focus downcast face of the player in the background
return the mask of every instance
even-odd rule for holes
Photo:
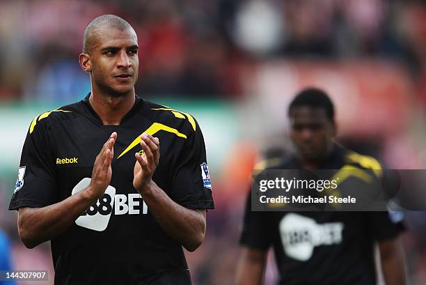
[[[290,112],[290,137],[303,160],[317,161],[328,155],[336,126],[323,108],[294,107]]]

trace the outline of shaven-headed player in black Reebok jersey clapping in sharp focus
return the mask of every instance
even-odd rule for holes
[[[214,208],[203,134],[135,95],[138,49],[122,18],[92,20],[79,56],[91,93],[26,136],[9,209],[26,247],[52,241],[55,284],[191,284],[182,245],[200,246]]]

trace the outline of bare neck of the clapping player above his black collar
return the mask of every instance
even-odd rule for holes
[[[121,120],[135,101],[134,91],[120,97],[90,93],[89,102],[96,114],[100,116],[103,125],[120,125]]]

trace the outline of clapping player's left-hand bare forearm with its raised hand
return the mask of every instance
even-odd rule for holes
[[[33,248],[68,229],[81,213],[104,194],[111,181],[111,160],[116,137],[116,132],[113,132],[97,155],[90,185],[85,190],[42,208],[19,208],[19,237],[26,247]]]

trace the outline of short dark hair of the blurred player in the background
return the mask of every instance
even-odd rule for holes
[[[296,107],[321,108],[326,111],[326,116],[330,121],[334,121],[334,106],[329,95],[318,88],[306,88],[300,91],[288,107],[288,116],[292,109]]]

